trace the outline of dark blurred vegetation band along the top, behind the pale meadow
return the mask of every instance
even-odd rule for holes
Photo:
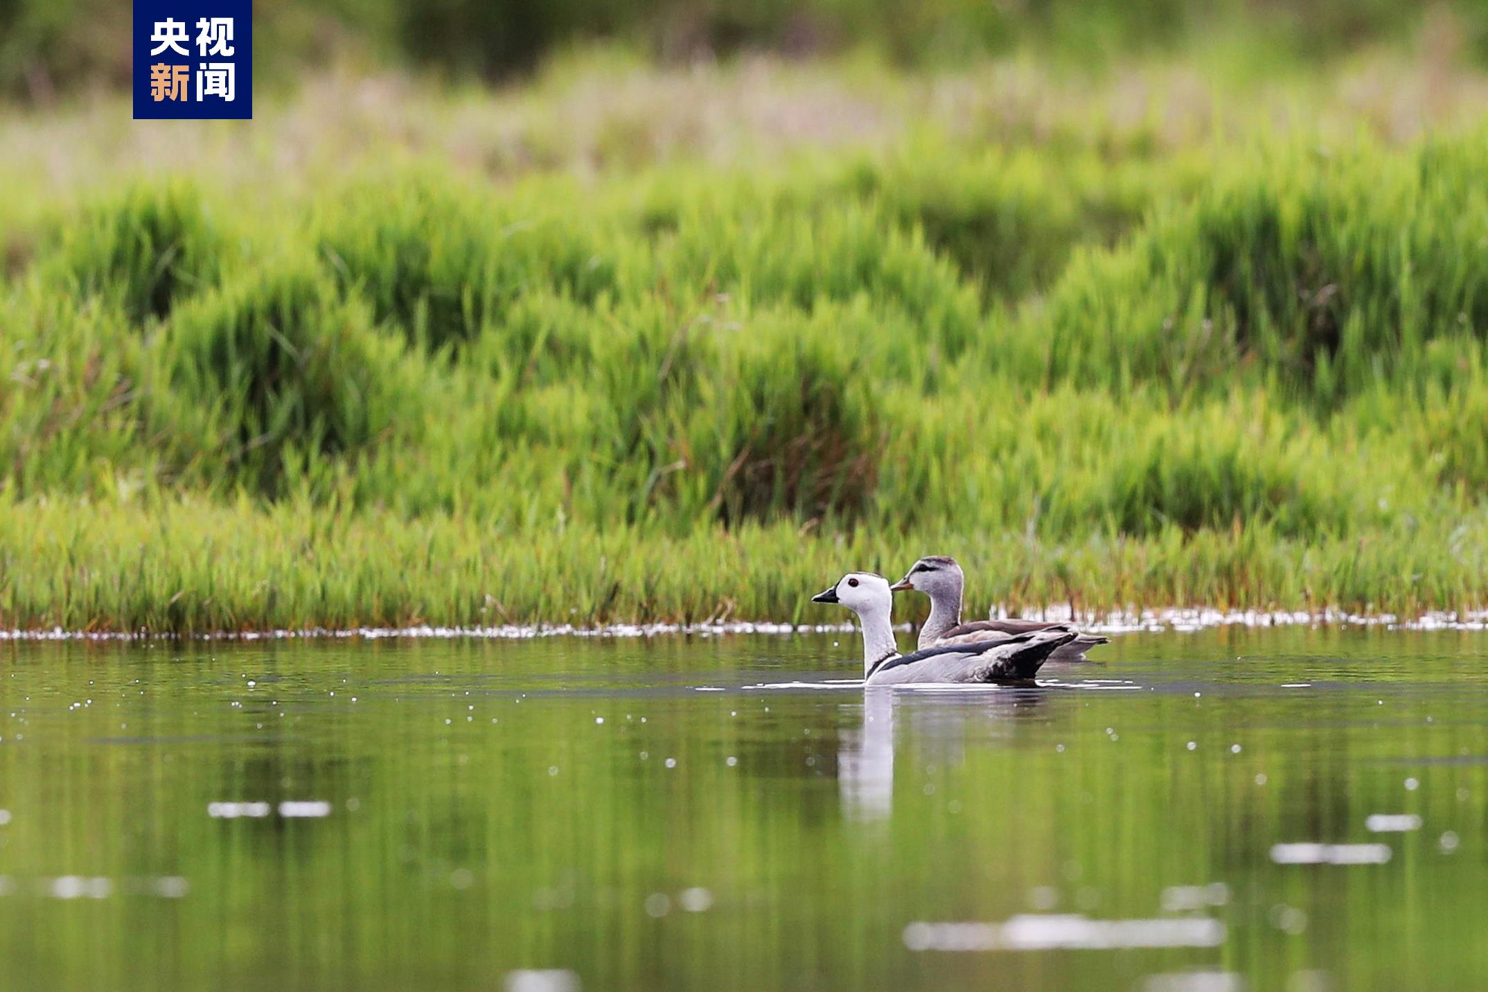
[[[1320,59],[1409,42],[1431,18],[1488,58],[1479,0],[259,0],[254,59],[268,86],[338,59],[496,80],[595,40],[662,62],[868,49],[923,67],[1031,51],[1089,67],[1217,42]],[[125,86],[129,25],[122,0],[0,0],[0,92]]]

